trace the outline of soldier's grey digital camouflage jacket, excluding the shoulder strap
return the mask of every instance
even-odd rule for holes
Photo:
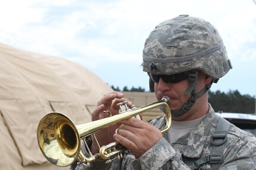
[[[214,114],[213,108],[210,107],[198,127],[180,137],[172,145],[167,142],[167,132],[165,132],[163,139],[138,159],[135,159],[132,153],[125,152],[123,159],[116,159],[110,165],[106,165],[105,161],[96,161],[90,168],[78,165],[71,169],[190,169],[194,161],[210,155],[213,147],[210,136],[216,130],[218,119],[219,116]],[[161,129],[165,126],[165,117],[157,117],[151,123]],[[256,169],[256,137],[253,134],[230,124],[224,146],[223,163],[218,164],[214,169]],[[85,152],[84,147],[83,152]],[[206,163],[200,169],[213,169],[213,167]]]

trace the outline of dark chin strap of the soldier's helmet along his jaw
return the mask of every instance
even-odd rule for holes
[[[210,82],[210,84],[207,84],[206,86],[204,86],[203,89],[201,89],[200,92],[196,92],[195,91],[195,81],[197,79],[197,70],[192,70],[189,73],[189,85],[188,85],[188,89],[185,92],[185,95],[190,95],[191,97],[187,100],[187,102],[185,102],[184,105],[182,105],[181,109],[179,110],[170,110],[172,113],[173,117],[178,117],[181,116],[185,113],[187,113],[191,107],[195,104],[195,100],[197,100],[197,98],[202,97],[204,94],[206,94],[206,92],[211,88],[211,84],[213,84],[214,79]],[[172,102],[172,100],[170,100],[170,102]],[[160,108],[160,110],[163,111],[163,108]]]

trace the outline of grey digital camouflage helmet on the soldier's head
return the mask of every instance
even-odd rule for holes
[[[160,23],[150,33],[143,49],[143,70],[172,75],[201,70],[213,79],[232,68],[216,28],[200,18],[179,15]]]

